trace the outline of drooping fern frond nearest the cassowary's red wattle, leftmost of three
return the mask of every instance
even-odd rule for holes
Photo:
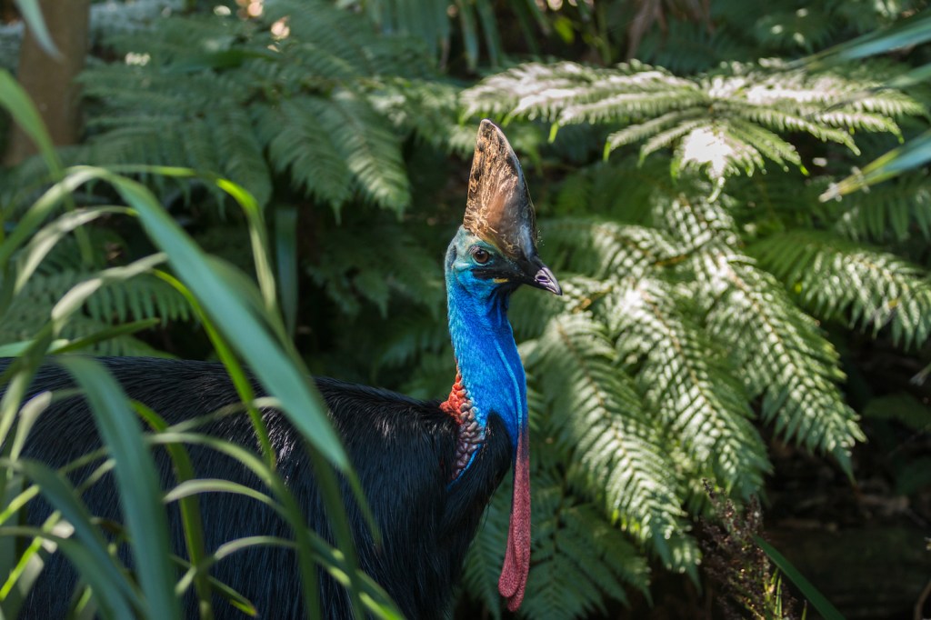
[[[668,541],[685,535],[672,464],[603,329],[585,314],[554,319],[526,363],[533,381],[547,388],[548,418],[587,491],[672,566]]]

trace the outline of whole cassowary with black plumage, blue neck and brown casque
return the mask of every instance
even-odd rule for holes
[[[457,363],[449,398],[422,402],[317,379],[382,533],[381,543],[372,544],[358,510],[350,509],[361,568],[409,618],[447,613],[484,508],[512,465],[514,494],[499,589],[511,610],[523,598],[531,551],[528,411],[526,380],[507,320],[507,304],[521,284],[561,294],[556,278],[537,255],[536,237],[533,204],[517,156],[502,131],[482,121],[466,216],[446,253],[449,327]],[[238,401],[220,364],[131,357],[103,362],[130,398],[158,411],[169,424]],[[71,385],[64,371],[47,363],[30,393]],[[263,418],[281,476],[301,503],[309,526],[329,535],[299,433],[277,411],[263,411]],[[202,430],[245,446],[256,445],[245,414],[225,416]],[[24,455],[61,466],[99,442],[86,402],[68,398],[39,417]],[[198,477],[260,487],[259,480],[218,452],[196,446],[189,452]],[[169,458],[155,451],[155,459],[169,488],[173,484]],[[93,514],[120,519],[110,478],[92,486],[84,497]],[[201,497],[200,505],[208,549],[256,534],[290,538],[288,526],[259,502],[211,493]],[[37,523],[50,508],[35,500],[29,510],[30,521]],[[173,506],[169,518],[173,544],[181,552],[180,516]],[[65,613],[66,593],[73,590],[76,577],[57,556],[49,559],[34,586],[24,617],[57,618]],[[271,547],[250,548],[211,569],[213,576],[251,600],[266,618],[304,617],[298,571],[293,552]],[[344,589],[325,574],[320,577],[320,596],[325,617],[350,616]],[[188,615],[196,616],[196,601],[186,604]],[[241,617],[223,600],[215,600],[214,609],[219,617]]]

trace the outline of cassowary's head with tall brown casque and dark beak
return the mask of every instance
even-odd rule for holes
[[[469,175],[466,217],[452,241],[448,269],[465,289],[486,298],[521,284],[562,294],[536,251],[533,201],[518,156],[504,132],[483,120]]]

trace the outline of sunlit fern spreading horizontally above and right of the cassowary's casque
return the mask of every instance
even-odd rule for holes
[[[895,119],[923,115],[924,106],[881,86],[865,76],[788,71],[776,61],[731,62],[690,78],[639,62],[596,68],[563,61],[493,75],[466,90],[464,101],[466,115],[541,119],[551,136],[579,123],[623,125],[608,136],[605,156],[638,142],[641,161],[671,148],[673,173],[703,168],[723,182],[764,170],[767,160],[804,169],[780,133],[806,133],[855,154],[854,130],[899,136]]]

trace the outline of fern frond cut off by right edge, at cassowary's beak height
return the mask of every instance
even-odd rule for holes
[[[931,334],[928,275],[894,254],[805,229],[771,236],[749,253],[818,317],[843,315],[874,336],[888,326],[906,348]]]

